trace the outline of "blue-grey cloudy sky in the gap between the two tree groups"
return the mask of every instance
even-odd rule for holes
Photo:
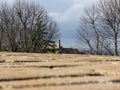
[[[14,0],[0,0],[13,3]],[[85,7],[97,0],[33,0],[42,5],[58,23],[62,46],[77,47],[76,29]]]

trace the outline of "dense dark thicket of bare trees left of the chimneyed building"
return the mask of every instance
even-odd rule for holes
[[[0,5],[0,51],[46,52],[58,31],[57,23],[34,2]]]

